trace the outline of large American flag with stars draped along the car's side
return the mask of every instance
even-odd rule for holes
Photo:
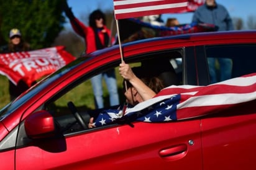
[[[252,73],[208,86],[169,86],[152,99],[128,107],[124,114],[119,109],[101,112],[94,125],[101,127],[114,122],[192,119],[237,109],[237,106],[245,104],[248,104],[246,107],[254,109],[251,111],[256,112],[255,100],[256,73]]]

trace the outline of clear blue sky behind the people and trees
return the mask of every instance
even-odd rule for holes
[[[85,16],[88,17],[88,14],[95,9],[101,9],[103,12],[114,9],[113,0],[68,0],[67,2],[78,19]],[[249,16],[256,17],[256,1],[254,0],[216,0],[216,2],[225,6],[232,18],[242,18],[245,26],[247,25]],[[180,24],[189,24],[191,23],[192,16],[193,12],[183,14],[163,14],[162,19],[166,21],[169,17],[176,17]],[[66,24],[65,26],[70,27],[70,24]]]

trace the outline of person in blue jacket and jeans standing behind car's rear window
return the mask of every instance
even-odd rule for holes
[[[217,4],[215,0],[206,0],[203,6],[199,6],[194,11],[192,22],[214,24],[216,31],[234,30],[232,19],[226,7]],[[216,75],[216,60],[220,66],[220,79]],[[211,83],[224,81],[231,78],[232,61],[229,58],[208,58],[209,74]]]

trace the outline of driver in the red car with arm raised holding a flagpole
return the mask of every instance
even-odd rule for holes
[[[119,73],[124,78],[124,96],[126,96],[129,107],[152,99],[164,87],[161,79],[156,76],[150,77],[141,67],[130,68],[128,64],[123,62],[119,65]],[[88,124],[89,128],[96,127],[93,120],[94,118],[91,117]]]

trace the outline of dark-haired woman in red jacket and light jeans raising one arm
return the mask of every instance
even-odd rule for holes
[[[85,38],[86,54],[106,48],[109,46],[109,42],[114,42],[114,37],[111,38],[111,31],[106,27],[105,15],[99,9],[89,15],[89,26],[80,22],[80,20],[73,15],[66,1],[63,3],[63,10],[70,20],[71,26],[76,34]],[[107,90],[109,91],[110,105],[119,105],[115,70],[109,69],[109,71],[91,78],[96,109],[104,107],[103,78],[106,82]]]

